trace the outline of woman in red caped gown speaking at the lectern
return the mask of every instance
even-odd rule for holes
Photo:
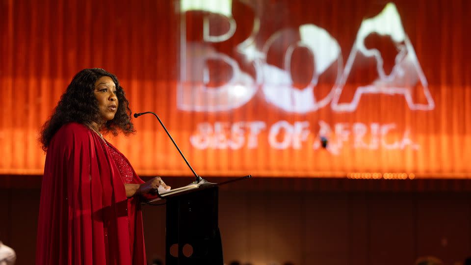
[[[134,132],[128,105],[116,76],[84,69],[44,124],[36,264],[146,264],[141,195],[170,186],[144,183],[103,137]]]

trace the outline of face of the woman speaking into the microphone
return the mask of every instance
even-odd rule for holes
[[[95,82],[95,97],[98,101],[98,109],[103,122],[110,121],[118,110],[118,97],[116,96],[116,84],[110,77],[101,77]]]

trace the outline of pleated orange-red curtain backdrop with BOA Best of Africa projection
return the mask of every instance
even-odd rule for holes
[[[0,3],[1,174],[42,174],[38,131],[89,67],[202,176],[471,173],[467,0]],[[138,174],[191,175],[133,121],[108,138]]]

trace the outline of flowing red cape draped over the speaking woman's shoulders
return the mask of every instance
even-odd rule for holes
[[[143,183],[134,172],[133,183]],[[103,140],[69,123],[52,137],[41,186],[37,265],[145,265],[138,198]]]

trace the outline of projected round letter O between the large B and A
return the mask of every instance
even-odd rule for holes
[[[297,63],[302,65],[298,70],[312,68],[309,69],[312,72],[305,73],[311,77],[307,82],[304,81],[307,83],[305,86],[301,84],[302,80],[297,83],[293,80],[296,78],[293,73],[298,73],[291,69],[296,64],[293,60],[293,54],[296,51],[307,53],[307,57],[311,59],[311,61],[308,59],[302,62],[300,55],[297,57]],[[325,29],[308,24],[302,25],[298,30],[281,30],[268,39],[262,54],[272,55],[274,62],[277,61],[277,57],[280,57],[282,62],[281,66],[277,66],[265,60],[257,67],[257,70],[262,72],[261,87],[268,102],[288,112],[306,113],[326,106],[332,100],[331,87],[328,88],[330,92],[325,96],[319,97],[315,93],[315,90],[319,88],[317,86],[319,77],[323,73],[328,70],[334,72],[337,79],[342,67],[340,46]],[[264,58],[266,59],[267,56]],[[334,69],[330,69],[333,65]],[[330,83],[337,81],[331,80]]]

